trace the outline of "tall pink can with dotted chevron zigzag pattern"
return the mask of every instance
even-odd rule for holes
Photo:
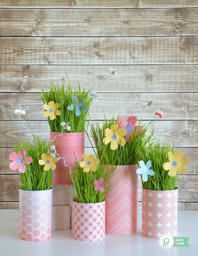
[[[138,166],[118,165],[105,195],[105,228],[108,234],[131,234],[137,231]]]

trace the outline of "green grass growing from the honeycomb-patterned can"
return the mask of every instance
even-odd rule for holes
[[[52,185],[52,170],[44,171],[44,166],[38,163],[41,155],[47,153],[49,144],[46,140],[41,140],[39,137],[34,137],[34,142],[35,145],[27,141],[20,141],[17,147],[13,145],[16,153],[20,149],[24,149],[27,152],[26,156],[32,158],[32,163],[26,164],[26,171],[24,173],[17,171],[21,180],[20,189],[33,191],[50,189]]]

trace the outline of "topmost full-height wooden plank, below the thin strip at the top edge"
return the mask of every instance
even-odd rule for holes
[[[0,36],[198,35],[198,9],[0,9]]]

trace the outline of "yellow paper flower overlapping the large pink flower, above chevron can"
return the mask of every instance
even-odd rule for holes
[[[118,144],[121,142],[121,146],[126,143],[124,135],[126,135],[127,131],[125,129],[118,130],[118,124],[112,124],[110,129],[105,129],[105,138],[103,139],[103,143],[108,144],[111,142],[111,150],[116,150],[118,148]]]

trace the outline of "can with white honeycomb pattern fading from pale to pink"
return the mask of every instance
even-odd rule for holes
[[[52,235],[52,189],[27,191],[19,189],[19,237],[42,241]]]

